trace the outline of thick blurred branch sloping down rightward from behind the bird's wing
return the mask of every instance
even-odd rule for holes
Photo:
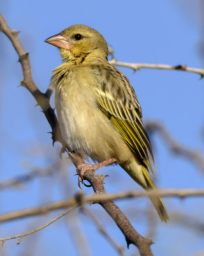
[[[146,124],[146,128],[149,132],[157,131],[167,143],[170,149],[181,156],[193,161],[198,168],[204,172],[204,156],[198,150],[190,150],[177,142],[170,133],[165,129],[164,125],[159,124],[157,121],[149,121]]]

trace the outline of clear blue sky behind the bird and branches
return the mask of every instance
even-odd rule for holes
[[[61,64],[59,52],[43,41],[73,24],[86,24],[105,36],[119,61],[135,63],[164,63],[188,65],[202,68],[200,54],[201,10],[200,1],[4,1],[0,10],[11,28],[20,31],[19,38],[29,52],[34,82],[45,92],[51,71]],[[59,145],[52,148],[50,127],[40,112],[33,97],[25,88],[17,88],[22,80],[18,57],[8,38],[0,34],[0,166],[1,180],[25,174],[33,168],[46,168],[58,159]],[[135,88],[143,110],[143,120],[158,120],[186,147],[203,152],[203,80],[196,74],[170,70],[141,70],[133,73],[120,68]],[[52,97],[52,102],[54,99]],[[203,188],[203,174],[187,159],[175,156],[168,150],[160,136],[151,136],[156,158],[157,183],[161,188]],[[63,164],[68,163],[64,156]],[[70,164],[71,166],[71,164]],[[63,175],[71,179],[72,189],[62,188],[58,175],[52,178],[36,179],[7,191],[1,191],[1,212],[23,209],[52,202],[70,196],[77,191],[75,169],[62,168]],[[107,191],[139,189],[123,170],[117,167],[105,168],[108,173]],[[66,187],[66,186],[65,186]],[[91,189],[85,188],[86,193]],[[186,212],[193,220],[203,223],[201,198],[186,200],[164,199],[170,212]],[[131,205],[130,205],[131,204]],[[147,220],[141,211],[149,201],[140,198],[119,202],[120,207],[145,236]],[[135,205],[135,207],[133,207]],[[133,207],[131,209],[131,207]],[[112,220],[97,205],[91,206],[110,234],[124,247],[126,243]],[[60,212],[60,211],[59,211]],[[53,218],[48,216],[20,220],[3,224],[0,236],[13,236],[25,232]],[[137,218],[139,216],[139,218]],[[117,255],[106,240],[98,234],[96,227],[84,215],[80,221],[85,236],[91,244],[92,255]],[[25,255],[25,244],[36,243],[34,255],[78,255],[73,246],[71,233],[65,225],[66,218],[43,230],[38,236],[5,244],[8,255]],[[35,237],[35,239],[34,239]],[[30,239],[30,240],[29,240]],[[38,243],[37,243],[38,241]],[[191,243],[189,243],[191,241]],[[203,234],[182,227],[173,221],[160,224],[154,237],[152,250],[155,255],[193,255],[203,250]],[[43,250],[43,254],[41,251]],[[99,250],[99,252],[98,252]],[[69,252],[69,253],[68,253]],[[134,252],[131,246],[127,255]],[[165,252],[165,253],[164,253]]]

